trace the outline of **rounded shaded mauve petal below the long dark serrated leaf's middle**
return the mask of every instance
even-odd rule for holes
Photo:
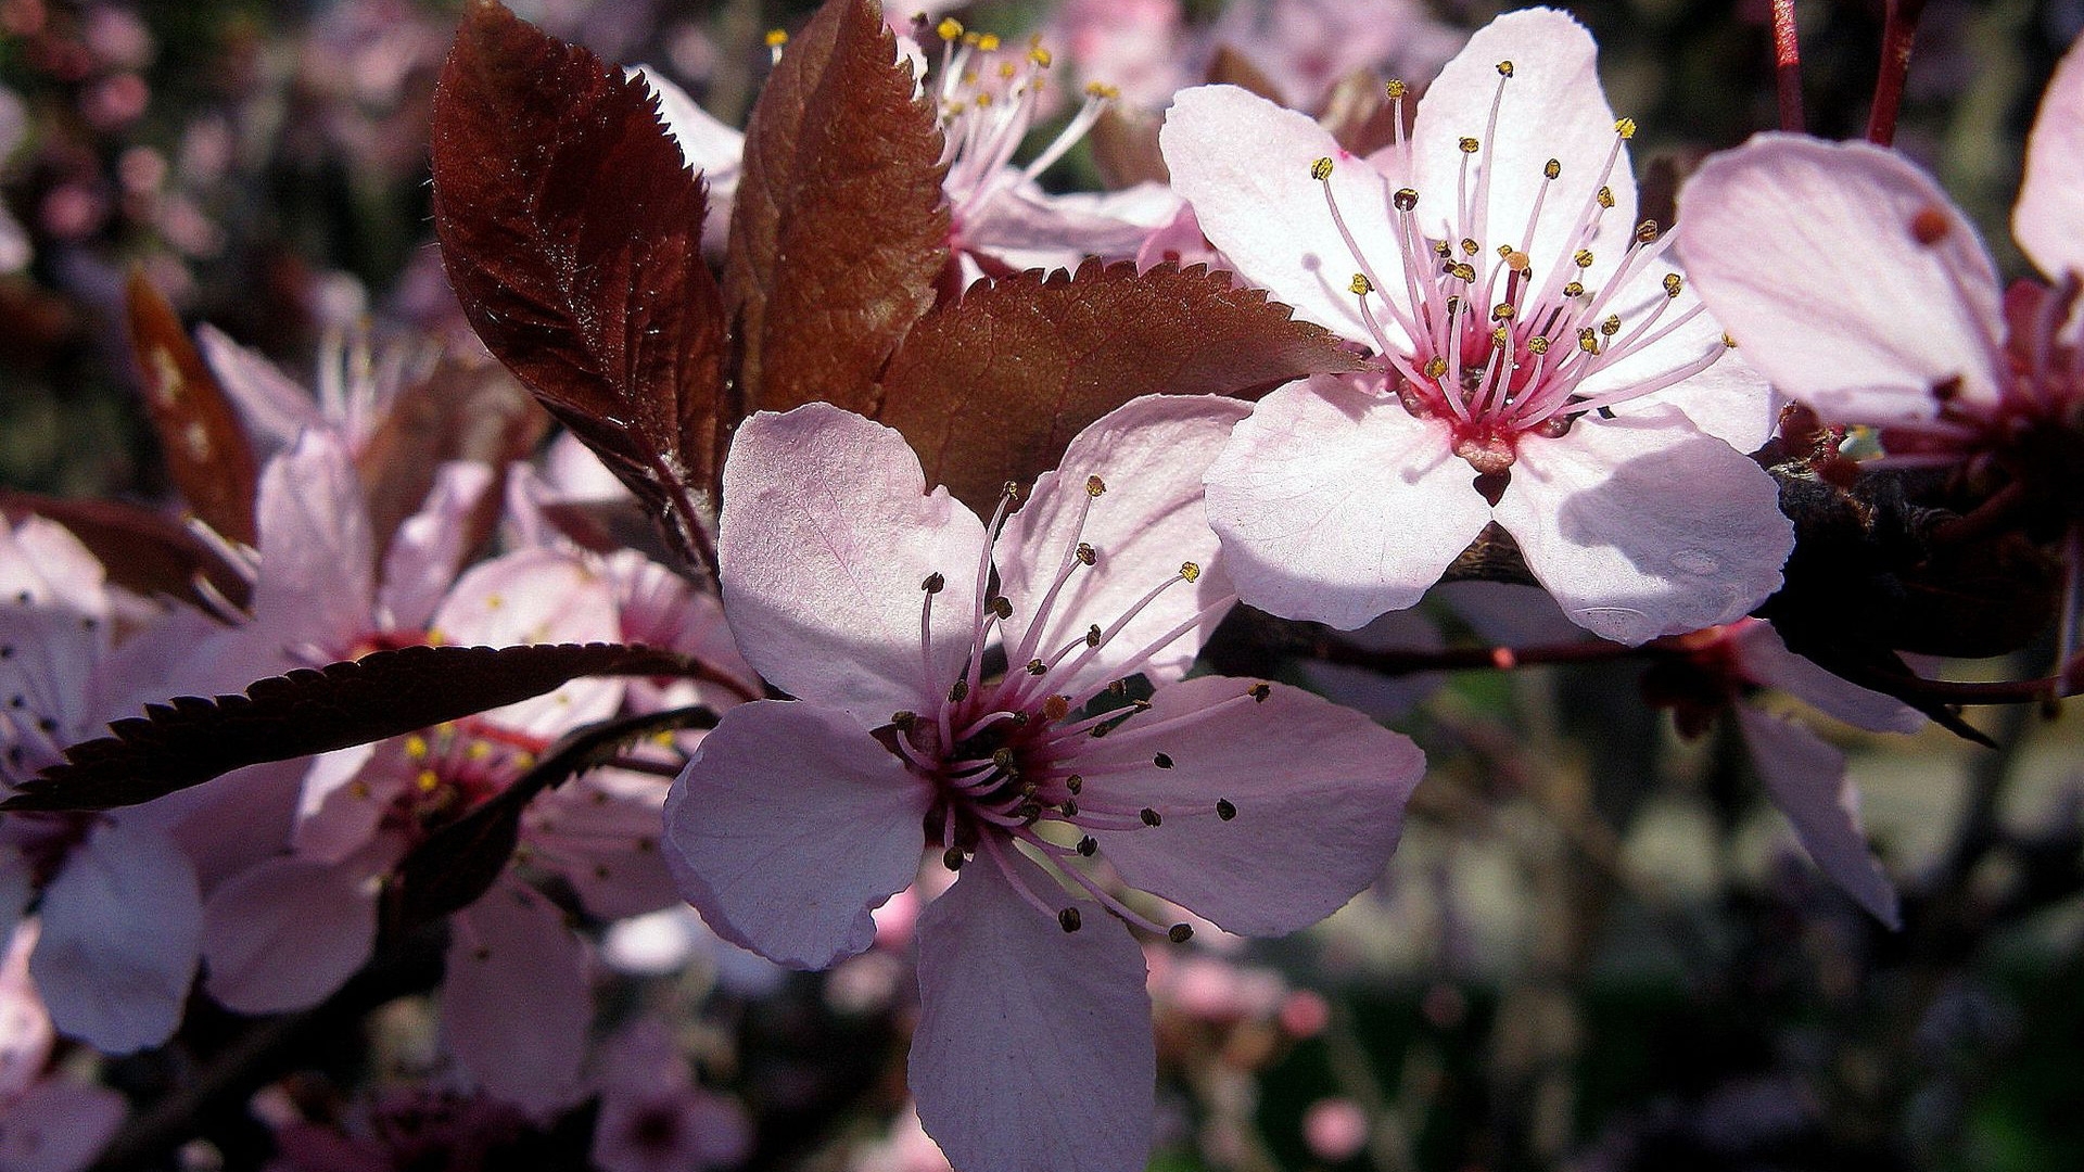
[[[315,859],[271,859],[204,903],[202,986],[238,1014],[304,1009],[363,968],[375,936],[369,876]]]

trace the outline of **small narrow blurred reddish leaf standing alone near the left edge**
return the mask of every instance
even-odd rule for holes
[[[144,405],[173,486],[202,523],[252,544],[260,465],[225,388],[142,271],[131,271],[123,294]]]

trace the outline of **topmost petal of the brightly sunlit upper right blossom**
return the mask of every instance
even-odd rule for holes
[[[1498,75],[1505,60],[1513,63],[1511,77]],[[1492,102],[1498,102],[1496,133],[1490,133]],[[1469,38],[1419,100],[1411,127],[1419,227],[1432,238],[1448,236],[1450,223],[1467,229],[1455,213],[1463,167],[1469,167],[1473,198],[1475,167],[1488,161],[1490,202],[1478,236],[1486,236],[1486,246],[1523,248],[1534,259],[1534,271],[1544,273],[1569,263],[1578,248],[1578,217],[1607,186],[1613,206],[1598,221],[1601,231],[1590,244],[1596,261],[1588,269],[1590,286],[1605,284],[1636,227],[1636,179],[1626,146],[1603,177],[1615,142],[1613,123],[1613,106],[1598,86],[1598,46],[1584,25],[1553,8],[1498,17]],[[1478,154],[1463,154],[1463,138],[1478,140]],[[1561,163],[1555,181],[1544,177],[1550,158]],[[1534,238],[1525,240],[1525,223],[1544,184],[1542,219]]]

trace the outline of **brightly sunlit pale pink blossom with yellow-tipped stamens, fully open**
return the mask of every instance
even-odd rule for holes
[[[1492,521],[1619,642],[1780,586],[1792,526],[1738,450],[1767,390],[1665,263],[1673,234],[1634,221],[1632,133],[1546,8],[1478,31],[1369,158],[1244,90],[1180,94],[1161,144],[1209,240],[1375,355],[1269,394],[1209,469],[1244,601],[1357,628]]]

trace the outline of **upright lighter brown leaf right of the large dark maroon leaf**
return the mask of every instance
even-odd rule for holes
[[[948,263],[940,123],[871,0],[829,0],[746,125],[723,271],[746,407],[865,411]]]

